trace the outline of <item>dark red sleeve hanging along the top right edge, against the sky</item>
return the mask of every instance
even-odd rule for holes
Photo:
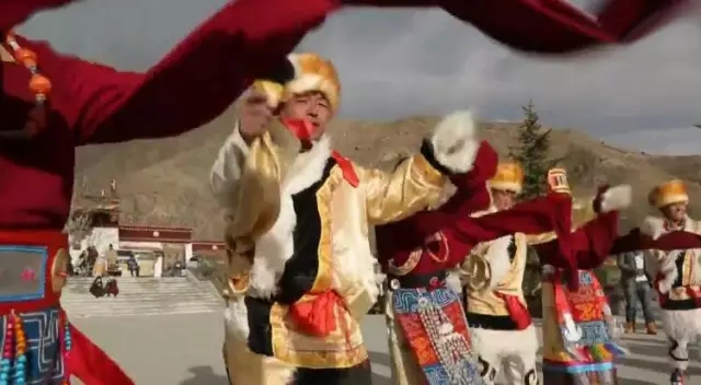
[[[598,18],[563,0],[344,0],[372,7],[443,7],[512,48],[567,54],[634,42],[658,30],[691,0],[608,0]],[[536,27],[537,26],[537,27]]]

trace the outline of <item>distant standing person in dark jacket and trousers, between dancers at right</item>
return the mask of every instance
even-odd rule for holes
[[[618,267],[621,269],[621,285],[625,295],[625,334],[635,332],[635,313],[637,302],[643,308],[643,318],[648,335],[656,335],[657,328],[651,310],[652,279],[645,272],[643,252],[631,252],[618,255]]]

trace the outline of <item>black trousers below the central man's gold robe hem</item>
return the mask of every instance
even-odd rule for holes
[[[347,369],[307,369],[295,372],[294,385],[371,385],[370,361]]]

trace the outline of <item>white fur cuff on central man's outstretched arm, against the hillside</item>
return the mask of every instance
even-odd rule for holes
[[[438,122],[430,138],[436,161],[455,173],[472,170],[480,143],[476,122],[470,110],[459,110]]]

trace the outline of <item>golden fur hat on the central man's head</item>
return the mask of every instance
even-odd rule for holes
[[[290,54],[287,61],[291,71],[283,71],[286,73],[276,77],[279,79],[258,79],[253,82],[253,89],[267,95],[273,107],[294,94],[318,91],[324,94],[335,113],[341,103],[341,80],[333,62],[311,52]]]

